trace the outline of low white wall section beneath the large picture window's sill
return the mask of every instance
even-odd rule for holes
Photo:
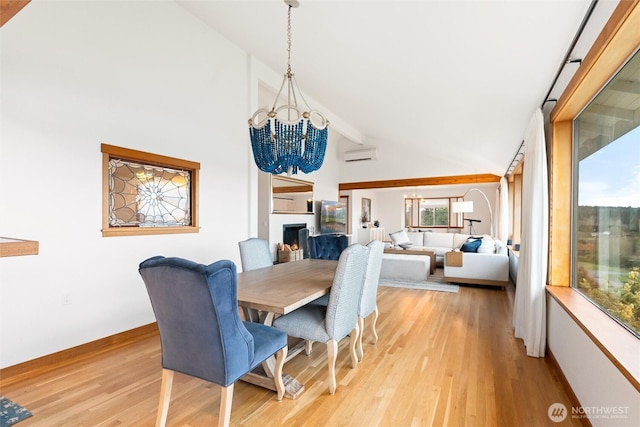
[[[602,413],[590,418],[597,426],[636,426],[640,420],[640,393],[602,353],[558,302],[547,297],[547,345],[558,361],[583,408],[624,411],[623,417]],[[552,402],[555,403],[555,402]],[[572,408],[567,408],[571,413]],[[576,408],[579,409],[579,408]]]

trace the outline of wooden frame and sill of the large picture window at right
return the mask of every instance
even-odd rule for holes
[[[640,391],[640,340],[571,288],[573,121],[638,49],[638,28],[640,1],[621,1],[551,111],[547,291]]]

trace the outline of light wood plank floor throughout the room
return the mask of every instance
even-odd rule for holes
[[[546,426],[549,405],[571,408],[545,359],[513,338],[513,288],[461,286],[444,293],[381,287],[380,340],[366,340],[351,369],[340,345],[338,389],[328,394],[326,348],[316,344],[285,371],[306,387],[297,400],[238,382],[232,425],[243,426]],[[368,327],[368,322],[366,326]],[[72,367],[2,387],[34,416],[29,426],[152,426],[160,392],[157,337]],[[170,426],[217,423],[219,388],[176,374]],[[570,411],[570,409],[569,409]]]

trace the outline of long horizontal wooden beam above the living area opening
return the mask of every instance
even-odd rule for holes
[[[390,179],[386,181],[343,182],[338,185],[339,191],[372,190],[377,188],[423,187],[429,185],[484,184],[500,182],[497,175],[485,173],[475,175],[435,176],[429,178]]]

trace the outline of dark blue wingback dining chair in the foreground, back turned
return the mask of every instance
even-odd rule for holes
[[[287,336],[270,326],[242,322],[233,262],[202,265],[153,257],[140,264],[139,272],[158,321],[162,347],[156,426],[166,423],[174,372],[222,386],[218,424],[228,426],[234,383],[276,354],[274,380],[277,399],[282,399]]]

